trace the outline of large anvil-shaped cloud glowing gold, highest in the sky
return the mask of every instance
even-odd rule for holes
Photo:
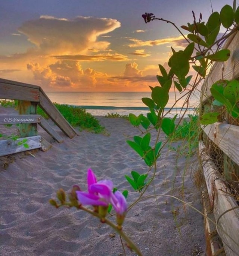
[[[110,18],[41,16],[25,22],[18,31],[37,46],[40,54],[78,54],[88,48],[106,49],[109,42],[97,42],[97,37],[120,26],[119,21]]]

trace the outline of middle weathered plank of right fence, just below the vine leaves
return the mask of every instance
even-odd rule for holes
[[[239,165],[239,126],[217,122],[203,127],[203,130],[212,142]]]

